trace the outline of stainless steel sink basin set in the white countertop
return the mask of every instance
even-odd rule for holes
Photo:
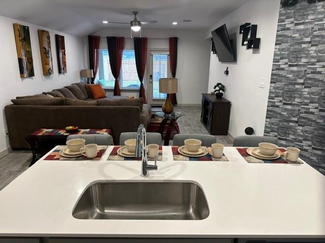
[[[191,182],[98,182],[78,200],[77,219],[202,220],[209,216],[202,188]]]

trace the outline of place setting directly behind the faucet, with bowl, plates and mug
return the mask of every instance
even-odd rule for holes
[[[107,160],[141,160],[141,157],[135,157],[137,140],[135,138],[127,139],[124,146],[114,146]],[[158,144],[147,145],[148,160],[163,160],[163,146]]]

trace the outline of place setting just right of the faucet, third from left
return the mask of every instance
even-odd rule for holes
[[[199,139],[185,139],[183,146],[172,146],[174,160],[229,161],[223,154],[223,145],[214,143],[211,147],[201,146]]]

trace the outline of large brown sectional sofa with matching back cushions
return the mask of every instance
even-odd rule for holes
[[[71,87],[72,86],[72,87]],[[40,128],[110,128],[114,144],[122,132],[136,132],[148,126],[151,106],[142,99],[108,97],[94,100],[84,83],[34,96],[16,97],[5,107],[10,144],[29,148],[25,137]]]

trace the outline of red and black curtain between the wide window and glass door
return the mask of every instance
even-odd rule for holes
[[[146,69],[146,60],[147,60],[147,37],[134,37],[134,52],[136,57],[136,66],[138,77],[140,79],[140,93],[139,98],[143,98],[143,103],[147,103],[146,93],[143,85],[143,76]]]

